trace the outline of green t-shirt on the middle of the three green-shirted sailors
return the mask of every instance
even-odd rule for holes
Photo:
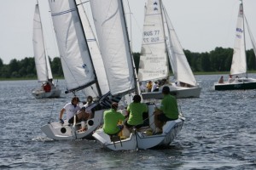
[[[148,112],[148,106],[142,103],[131,103],[128,105],[127,111],[130,112],[129,120],[130,125],[143,124],[143,112]]]

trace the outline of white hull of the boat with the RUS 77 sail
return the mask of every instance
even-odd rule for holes
[[[171,94],[174,95],[177,99],[184,98],[199,98],[201,94],[201,88],[184,88],[184,87],[174,87],[170,86]],[[159,92],[147,92],[142,93],[143,99],[163,99],[164,95]]]

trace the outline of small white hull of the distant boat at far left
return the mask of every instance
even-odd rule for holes
[[[32,96],[34,96],[36,99],[59,98],[61,96],[61,89],[54,87],[50,90],[50,92],[45,92],[41,88],[32,89]]]

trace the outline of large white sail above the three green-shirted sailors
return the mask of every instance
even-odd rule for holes
[[[112,95],[134,90],[134,68],[120,0],[91,0],[90,7]]]

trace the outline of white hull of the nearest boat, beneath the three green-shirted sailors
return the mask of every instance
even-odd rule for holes
[[[148,105],[148,118],[150,129],[154,127],[154,105]],[[135,131],[126,139],[111,141],[110,136],[103,132],[102,128],[98,129],[92,136],[102,144],[104,148],[110,150],[147,150],[159,145],[171,144],[183,127],[185,118],[181,116],[177,120],[166,122],[163,127],[163,133],[152,134],[142,131]]]

